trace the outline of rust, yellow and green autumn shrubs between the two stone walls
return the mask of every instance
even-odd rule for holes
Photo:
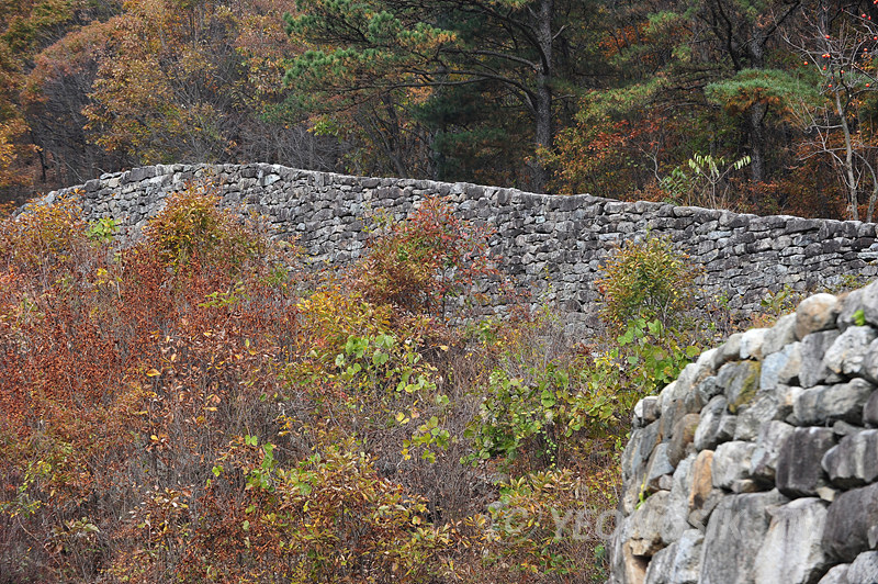
[[[0,223],[2,582],[603,581],[630,409],[711,334],[650,238],[605,338],[480,314],[440,200],[333,272],[195,190],[114,227]]]

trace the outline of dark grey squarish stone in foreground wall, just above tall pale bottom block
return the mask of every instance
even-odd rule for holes
[[[777,457],[777,488],[789,496],[815,495],[826,484],[825,473],[815,462],[835,446],[835,433],[831,428],[796,428],[780,447]]]

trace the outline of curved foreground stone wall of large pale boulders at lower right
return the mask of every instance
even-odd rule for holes
[[[878,583],[878,282],[736,334],[635,407],[614,584]]]

